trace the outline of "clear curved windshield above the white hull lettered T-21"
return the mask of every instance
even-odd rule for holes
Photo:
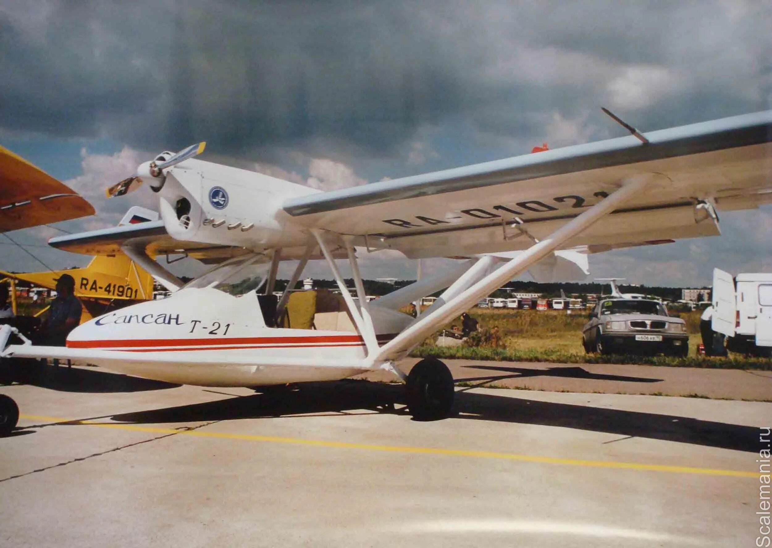
[[[188,282],[185,288],[212,287],[229,295],[245,295],[260,289],[266,282],[270,264],[269,257],[262,253],[237,257]]]

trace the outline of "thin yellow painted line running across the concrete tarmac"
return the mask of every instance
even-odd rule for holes
[[[449,455],[455,457],[472,458],[500,458],[510,461],[539,462],[542,464],[591,466],[594,468],[642,470],[646,472],[675,472],[676,474],[702,474],[722,475],[740,478],[758,478],[760,472],[743,472],[741,470],[722,470],[697,468],[694,466],[649,465],[640,462],[614,462],[614,461],[589,461],[575,458],[540,457],[537,455],[518,455],[516,453],[500,453],[491,451],[472,451],[467,449],[443,449],[432,447],[410,447],[404,445],[371,445],[364,443],[349,443],[347,441],[327,441],[304,438],[283,438],[280,436],[261,436],[253,434],[230,434],[227,432],[210,432],[201,430],[176,430],[174,428],[151,428],[148,426],[121,425],[106,422],[79,421],[58,417],[46,417],[42,415],[22,414],[20,418],[36,421],[52,421],[56,423],[70,423],[76,425],[99,426],[101,428],[117,428],[135,432],[150,432],[152,434],[180,434],[195,436],[198,438],[238,439],[245,441],[269,441],[293,445],[311,445],[315,447],[330,447],[341,449],[367,449],[369,451],[417,453],[422,455]]]

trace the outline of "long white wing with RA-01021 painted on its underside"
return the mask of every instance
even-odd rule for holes
[[[646,137],[648,144],[621,137],[306,195],[283,208],[303,225],[426,257],[526,249],[635,174],[660,174],[667,184],[564,247],[717,235],[714,219],[696,208],[699,201],[725,210],[772,202],[772,110]]]

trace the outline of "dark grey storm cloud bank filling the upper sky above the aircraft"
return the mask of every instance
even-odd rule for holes
[[[770,26],[764,2],[19,3],[0,124],[232,155],[378,157],[449,119],[532,140],[555,113],[607,137],[601,104],[648,129],[768,108]]]

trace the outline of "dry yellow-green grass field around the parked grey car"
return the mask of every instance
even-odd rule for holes
[[[600,356],[587,354],[581,345],[582,326],[587,323],[584,310],[496,310],[474,308],[469,314],[479,322],[479,329],[490,330],[498,326],[501,333],[499,347],[435,346],[437,333],[411,353],[414,357],[466,358],[470,360],[550,361],[569,364],[649,364],[675,367],[715,367],[731,369],[772,370],[772,360],[747,358],[731,354],[729,358],[697,357],[697,345],[702,342],[699,334],[700,312],[680,314],[689,333],[689,356],[686,358],[665,356]],[[461,326],[461,318],[452,324]],[[439,333],[439,331],[438,331]]]

